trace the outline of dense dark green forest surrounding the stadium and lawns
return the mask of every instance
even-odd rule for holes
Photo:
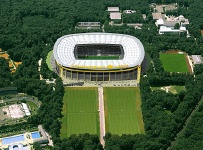
[[[167,4],[177,2],[178,15],[190,20],[188,26],[191,37],[179,35],[159,35],[149,9],[150,3]],[[140,90],[142,97],[142,112],[145,123],[145,135],[112,135],[105,136],[105,149],[167,149],[182,130],[187,117],[195,108],[203,93],[203,67],[195,66],[195,79],[191,74],[170,74],[165,72],[159,59],[159,52],[166,50],[182,50],[188,54],[203,56],[202,0],[2,0],[0,3],[0,47],[7,51],[14,61],[22,61],[17,71],[10,74],[8,62],[0,58],[0,87],[16,86],[18,92],[38,97],[42,105],[38,113],[28,119],[27,127],[43,124],[51,134],[54,147],[47,149],[103,149],[95,135],[72,135],[60,139],[60,128],[64,94],[63,84],[57,75],[51,72],[45,59],[53,49],[57,38],[71,33],[92,32],[91,30],[76,30],[75,25],[81,21],[99,21],[104,24],[105,32],[129,34],[137,37],[143,43],[145,51],[154,62],[155,71],[151,65],[141,78]],[[107,7],[118,6],[120,10],[132,9],[146,14],[141,30],[135,30],[124,23],[122,26],[110,26]],[[131,16],[130,16],[131,17]],[[132,16],[134,17],[137,16]],[[126,21],[132,20],[125,18]],[[94,32],[101,32],[95,30]],[[55,84],[46,84],[39,80],[38,60],[42,58],[41,74],[44,78],[57,78]],[[2,71],[3,70],[3,71]],[[150,86],[184,85],[186,91],[178,94],[164,91],[152,91]],[[203,138],[202,105],[188,124],[183,135],[177,139],[174,149],[199,149]],[[20,124],[9,127],[11,130],[20,128]],[[196,130],[193,130],[195,127]],[[5,130],[0,127],[0,131]],[[197,130],[198,129],[198,130]],[[188,146],[193,143],[193,147]],[[36,149],[41,149],[37,144]]]

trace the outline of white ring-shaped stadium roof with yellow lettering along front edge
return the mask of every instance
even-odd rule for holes
[[[124,57],[120,60],[77,60],[74,48],[77,44],[120,44]],[[80,33],[59,38],[53,50],[55,60],[64,67],[80,69],[118,69],[140,65],[144,59],[144,47],[133,36],[114,33]]]

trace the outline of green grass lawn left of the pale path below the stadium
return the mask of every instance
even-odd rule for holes
[[[65,88],[61,138],[71,134],[99,135],[97,88]]]

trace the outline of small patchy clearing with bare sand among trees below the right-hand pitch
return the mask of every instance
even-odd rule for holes
[[[165,90],[173,94],[178,94],[180,91],[185,91],[185,86],[163,86],[163,87],[151,87],[154,90]]]

